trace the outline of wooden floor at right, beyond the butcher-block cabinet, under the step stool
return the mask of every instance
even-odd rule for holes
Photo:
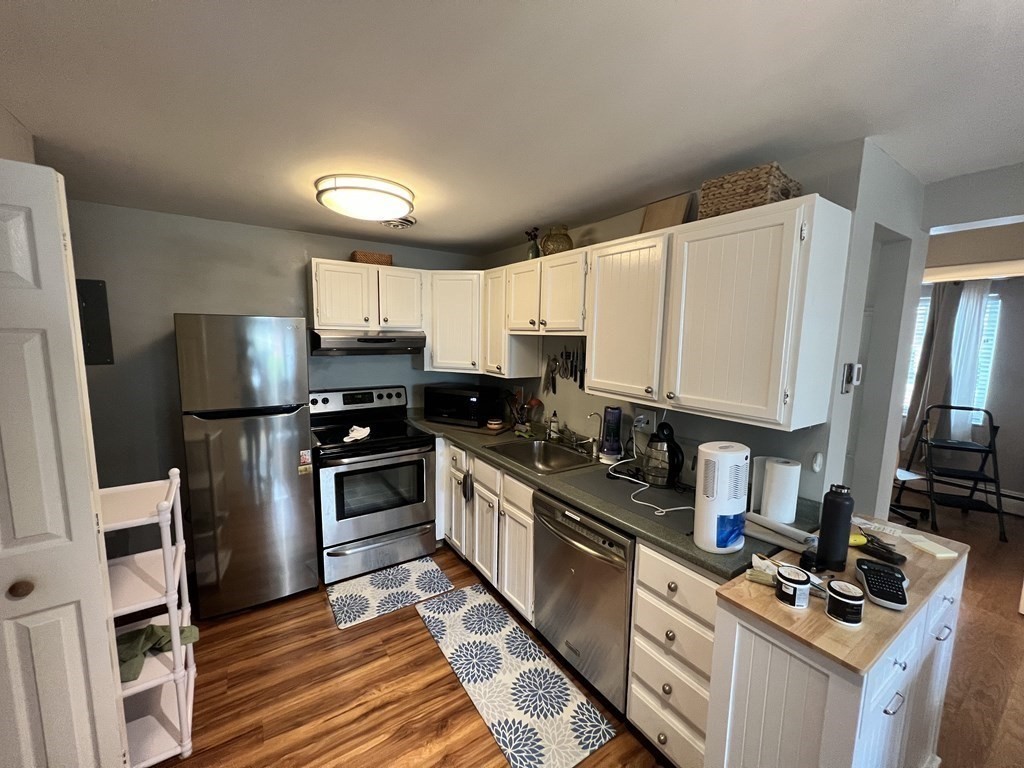
[[[1024,518],[941,509],[939,534],[971,546],[939,734],[942,768],[1024,766]],[[928,523],[921,527],[927,529]]]

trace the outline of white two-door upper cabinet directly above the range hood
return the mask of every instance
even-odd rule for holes
[[[313,259],[312,273],[314,328],[423,328],[419,269]]]

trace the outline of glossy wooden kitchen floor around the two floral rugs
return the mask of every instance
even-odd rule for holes
[[[479,581],[435,559],[456,587]],[[166,768],[508,766],[415,607],[338,630],[318,591],[200,630],[193,756]],[[657,764],[605,715],[618,735],[583,768]]]

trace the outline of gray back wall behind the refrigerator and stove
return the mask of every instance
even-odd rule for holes
[[[182,462],[175,312],[302,315],[309,259],[386,251],[396,266],[464,268],[472,258],[70,201],[78,278],[103,280],[115,365],[87,369],[100,486],[153,480]],[[415,358],[310,361],[314,387],[437,378]]]

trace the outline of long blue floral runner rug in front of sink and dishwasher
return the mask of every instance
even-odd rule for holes
[[[569,768],[615,735],[481,585],[416,610],[512,768]]]

